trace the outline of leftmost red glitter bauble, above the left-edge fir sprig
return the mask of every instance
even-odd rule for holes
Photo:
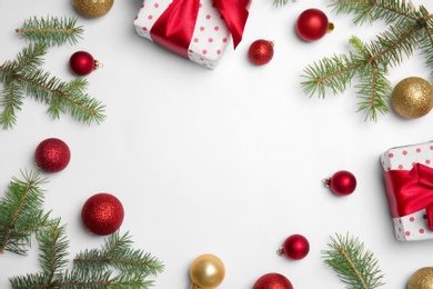
[[[71,159],[68,144],[56,138],[41,141],[36,151],[34,160],[38,168],[47,172],[58,172],[64,169]]]

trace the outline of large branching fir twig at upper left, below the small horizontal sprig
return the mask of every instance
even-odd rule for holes
[[[60,113],[69,113],[75,120],[90,124],[104,120],[104,104],[85,93],[88,81],[77,78],[70,82],[51,77],[40,69],[47,44],[29,44],[17,56],[17,60],[0,66],[3,90],[0,93],[0,124],[12,128],[17,122],[16,112],[21,110],[24,94],[49,106],[48,113],[59,119]]]

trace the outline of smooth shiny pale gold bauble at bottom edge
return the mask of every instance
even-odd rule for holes
[[[191,265],[191,288],[213,289],[218,287],[225,276],[224,263],[214,255],[202,255]]]

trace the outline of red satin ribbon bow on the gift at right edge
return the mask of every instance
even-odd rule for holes
[[[410,171],[386,171],[384,179],[392,217],[425,209],[429,228],[433,230],[433,169],[417,162]]]

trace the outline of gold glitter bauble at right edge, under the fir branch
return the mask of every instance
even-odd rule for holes
[[[403,79],[392,92],[391,104],[402,118],[416,119],[424,117],[433,108],[433,87],[422,78]]]

